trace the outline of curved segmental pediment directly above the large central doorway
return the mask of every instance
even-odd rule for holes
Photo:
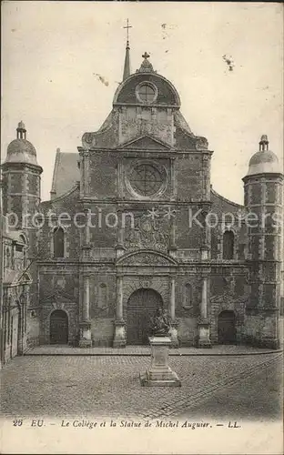
[[[117,265],[121,266],[177,266],[174,258],[158,251],[137,251],[129,253],[117,260]]]

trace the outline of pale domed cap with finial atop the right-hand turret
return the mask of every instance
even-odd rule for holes
[[[259,152],[255,153],[249,160],[249,171],[247,176],[264,173],[281,173],[278,157],[269,150],[269,139],[267,135],[261,136]]]

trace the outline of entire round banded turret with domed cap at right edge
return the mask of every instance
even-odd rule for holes
[[[283,174],[278,157],[269,150],[268,136],[261,136],[243,182],[251,289],[246,313],[254,320],[247,336],[256,346],[278,349]]]

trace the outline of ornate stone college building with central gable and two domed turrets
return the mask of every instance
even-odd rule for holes
[[[180,104],[147,53],[130,73],[127,44],[110,114],[82,136],[77,154],[57,149],[44,202],[35,148],[17,128],[3,166],[4,207],[21,220],[30,214],[21,226],[33,282],[28,343],[145,344],[162,306],[173,346],[278,348],[278,158],[261,136],[243,178],[244,206],[218,195],[213,151]]]

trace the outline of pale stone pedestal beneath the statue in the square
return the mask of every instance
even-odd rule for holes
[[[168,366],[168,349],[172,341],[169,337],[149,337],[151,364],[145,373],[140,373],[141,386],[180,387],[177,373]]]

